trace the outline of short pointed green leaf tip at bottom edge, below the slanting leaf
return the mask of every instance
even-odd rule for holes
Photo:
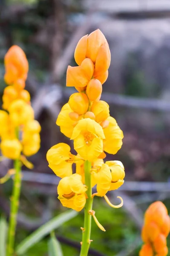
[[[51,239],[49,240],[49,256],[63,256],[61,245],[56,239],[55,234],[51,234]]]

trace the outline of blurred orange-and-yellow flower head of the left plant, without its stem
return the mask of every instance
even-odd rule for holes
[[[29,157],[39,150],[41,130],[34,120],[30,94],[24,89],[29,64],[23,50],[16,45],[8,50],[4,63],[8,86],[3,93],[4,110],[0,110],[0,149],[4,157],[24,159],[23,155]]]

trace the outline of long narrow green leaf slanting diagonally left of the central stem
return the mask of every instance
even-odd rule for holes
[[[30,247],[32,247],[34,244],[43,239],[44,236],[48,235],[52,230],[55,230],[56,228],[60,227],[66,221],[69,221],[70,219],[74,218],[77,214],[78,212],[72,210],[61,213],[60,215],[56,216],[43,226],[39,227],[37,230],[35,230],[35,232],[33,232],[30,236],[28,236],[20,244],[18,244],[16,249],[17,255],[22,255],[26,253],[26,251]]]

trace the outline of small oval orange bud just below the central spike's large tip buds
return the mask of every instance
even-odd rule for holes
[[[86,94],[91,101],[95,101],[96,99],[101,97],[102,93],[102,85],[98,79],[92,79],[87,84]]]

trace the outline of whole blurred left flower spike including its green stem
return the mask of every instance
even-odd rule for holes
[[[14,174],[11,196],[9,235],[7,256],[13,255],[14,237],[19,207],[21,166],[32,169],[33,165],[26,157],[36,154],[40,148],[40,124],[34,119],[30,104],[30,94],[25,90],[29,64],[23,50],[12,46],[5,55],[5,76],[7,84],[3,92],[3,110],[0,110],[0,150],[3,157],[14,160],[14,169],[10,169],[0,183],[6,182]]]

